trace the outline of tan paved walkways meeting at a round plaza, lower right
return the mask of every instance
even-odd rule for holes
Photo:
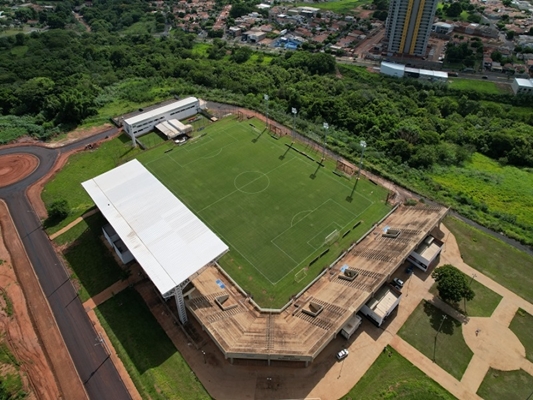
[[[525,358],[524,346],[509,329],[518,308],[533,314],[533,305],[467,265],[461,258],[455,237],[445,226],[441,225],[441,230],[445,234],[441,265],[452,264],[469,276],[475,274],[477,281],[500,294],[502,300],[490,318],[465,318],[442,300],[434,298],[431,293],[423,296],[463,322],[463,336],[474,355],[460,382],[399,336],[395,336],[390,345],[454,396],[459,399],[478,399],[476,393],[491,367],[504,371],[522,368],[533,375],[533,363]],[[433,282],[430,277],[428,280]]]

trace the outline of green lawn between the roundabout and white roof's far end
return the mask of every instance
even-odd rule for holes
[[[43,192],[45,204],[66,199],[70,215],[59,224],[46,228],[48,234],[57,232],[94,206],[91,198],[81,186],[81,182],[94,178],[119,164],[132,159],[141,150],[131,147],[126,135],[103,143],[96,150],[77,153],[69,158],[65,167],[49,181]]]

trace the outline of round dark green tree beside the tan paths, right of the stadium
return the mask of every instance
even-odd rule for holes
[[[437,268],[431,276],[437,282],[440,298],[450,303],[464,300],[466,311],[466,301],[472,300],[476,295],[468,283],[467,276],[450,264]]]

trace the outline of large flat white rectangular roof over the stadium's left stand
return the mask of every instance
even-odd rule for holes
[[[228,246],[139,161],[82,183],[161,294]]]

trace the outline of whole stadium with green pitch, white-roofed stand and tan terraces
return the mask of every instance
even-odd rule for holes
[[[83,186],[183,325],[193,317],[231,362],[307,366],[357,312],[380,325],[394,311],[392,274],[438,257],[447,210],[391,208],[384,188],[265,131],[226,117]]]

